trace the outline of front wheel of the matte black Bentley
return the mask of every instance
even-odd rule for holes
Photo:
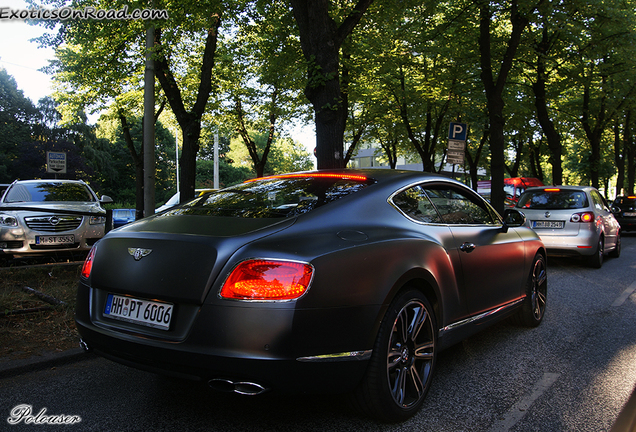
[[[526,298],[515,315],[515,321],[526,327],[537,327],[543,321],[548,296],[548,274],[545,257],[537,253],[526,283]]]

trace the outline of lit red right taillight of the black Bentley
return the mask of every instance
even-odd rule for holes
[[[314,268],[295,261],[248,260],[232,271],[220,296],[241,300],[292,300],[311,283]]]

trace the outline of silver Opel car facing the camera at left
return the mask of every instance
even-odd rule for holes
[[[87,252],[104,236],[105,222],[106,211],[83,181],[14,181],[0,200],[0,257]]]

